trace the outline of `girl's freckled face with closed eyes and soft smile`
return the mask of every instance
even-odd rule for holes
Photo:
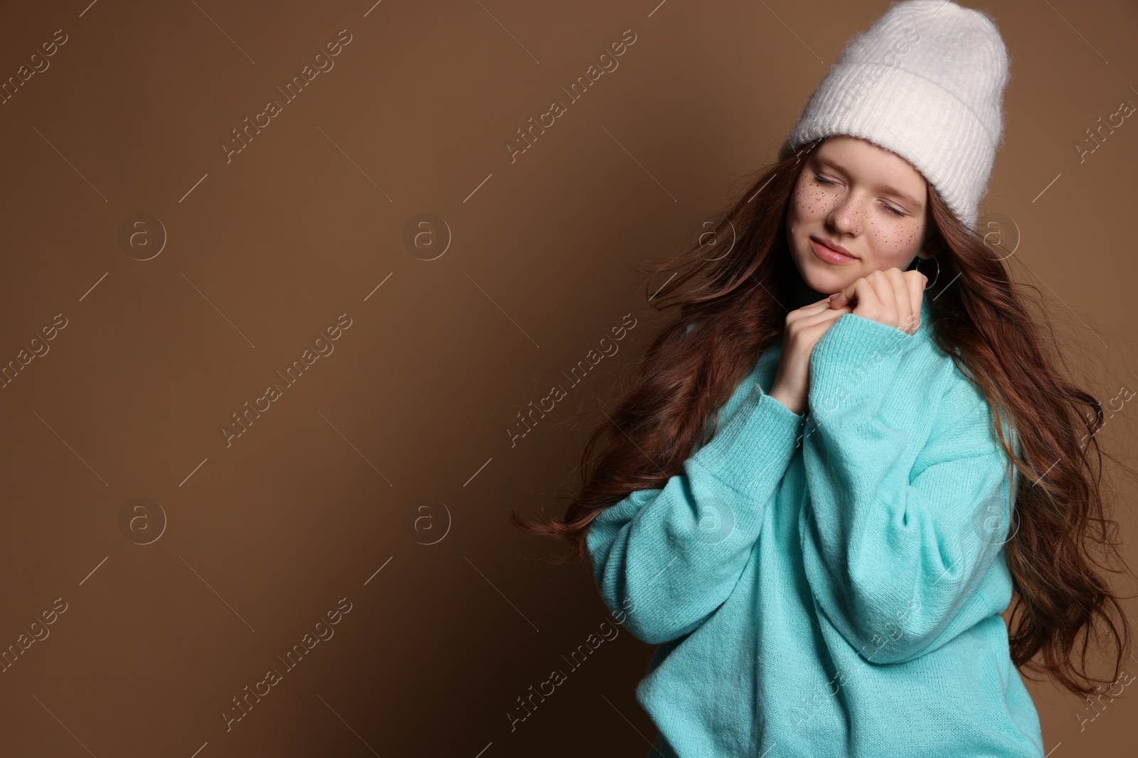
[[[921,172],[897,153],[858,138],[826,139],[802,161],[786,209],[786,244],[802,280],[830,294],[874,270],[904,270],[918,252],[927,257],[927,193]]]

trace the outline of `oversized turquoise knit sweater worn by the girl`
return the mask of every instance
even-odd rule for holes
[[[914,335],[840,316],[807,416],[762,351],[683,472],[591,524],[604,603],[659,645],[650,756],[1044,755],[999,615],[1017,473],[932,328],[927,300]]]

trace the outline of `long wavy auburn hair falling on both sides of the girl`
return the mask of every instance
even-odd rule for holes
[[[657,275],[674,270],[649,302],[661,310],[678,305],[679,313],[653,338],[635,380],[585,445],[582,489],[561,518],[530,523],[510,511],[519,528],[572,547],[575,555],[553,563],[591,565],[585,534],[592,520],[629,493],[661,489],[683,473],[696,442],[714,435],[717,409],[759,353],[780,343],[787,313],[780,303],[791,301],[798,276],[786,247],[786,209],[803,156],[822,142],[798,152],[784,143],[778,160],[756,172],[745,192],[725,207],[714,233],[665,261],[645,282],[648,294]],[[1103,690],[1090,683],[1107,684],[1088,673],[1088,650],[1114,651],[1111,682],[1116,682],[1130,648],[1125,614],[1099,572],[1122,570],[1111,568],[1114,559],[1125,566],[1118,524],[1104,513],[1103,455],[1130,469],[1099,449],[1103,408],[1055,368],[1054,331],[1040,318],[1045,333],[1029,315],[1017,293],[1028,285],[1012,283],[1004,265],[1008,256],[993,256],[993,248],[960,224],[932,186],[929,198],[930,241],[940,264],[925,292],[934,340],[996,414],[1011,422],[1024,453],[1016,455],[993,414],[993,435],[1023,482],[1004,545],[1014,589],[1012,660],[1017,668],[1049,672],[1086,698]],[[695,339],[677,339],[693,323]]]

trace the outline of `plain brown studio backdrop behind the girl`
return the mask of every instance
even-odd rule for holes
[[[0,105],[0,361],[67,319],[0,390],[0,647],[67,603],[0,674],[0,753],[645,755],[633,690],[652,648],[627,632],[511,732],[516,698],[609,614],[506,514],[574,493],[660,323],[635,268],[774,157],[888,3],[88,2],[0,10],[0,78],[67,35]],[[1012,219],[1016,276],[1106,403],[1138,388],[1138,124],[1082,164],[1074,143],[1138,103],[1138,8],[983,7],[1013,78],[981,213]],[[559,88],[629,28],[619,67],[568,102]],[[340,30],[335,67],[226,163],[231,130]],[[567,113],[511,163],[554,99]],[[118,242],[137,213],[165,228],[149,260]],[[422,213],[452,235],[434,260],[403,241]],[[345,313],[335,352],[226,447],[230,415]],[[516,414],[625,314],[620,352],[511,447]],[[1130,460],[1133,414],[1102,433]],[[165,514],[149,544],[119,527],[137,497]],[[341,598],[335,636],[226,733],[231,698]],[[1129,688],[1080,730],[1086,703],[1029,686],[1052,756],[1132,747]]]

